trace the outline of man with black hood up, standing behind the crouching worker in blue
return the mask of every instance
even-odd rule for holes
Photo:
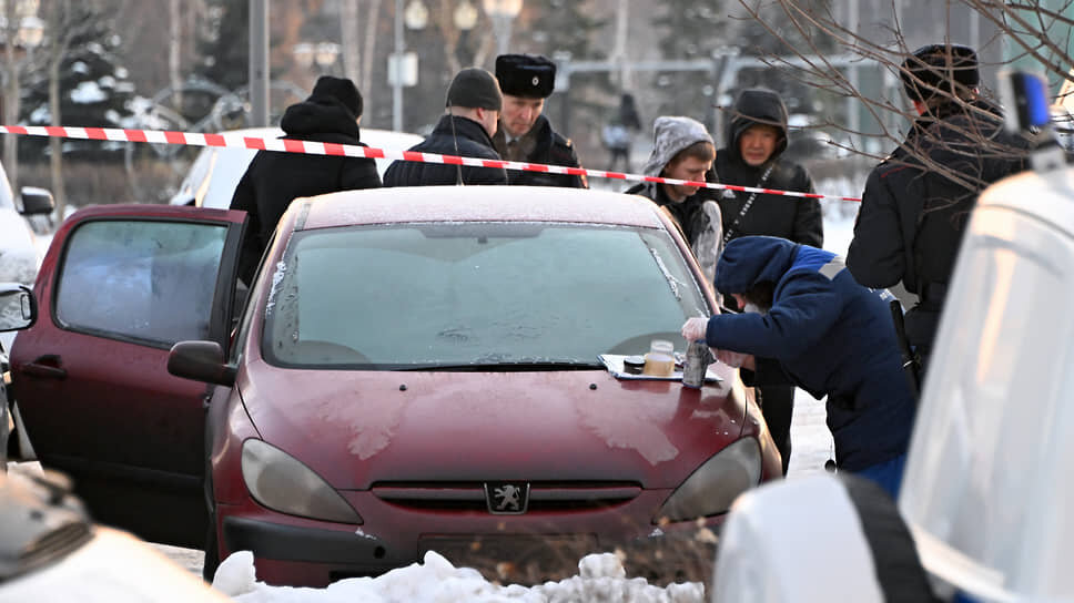
[[[812,193],[813,182],[804,167],[782,159],[787,150],[787,106],[771,90],[743,90],[734,101],[727,125],[727,146],[716,152],[716,181],[756,188]],[[705,190],[716,196],[723,213],[723,243],[740,236],[778,236],[793,243],[823,247],[824,225],[820,202],[758,193]],[[725,304],[736,308],[734,300]],[[761,411],[783,458],[783,473],[791,458],[791,417],[794,388],[770,385],[760,388]]]

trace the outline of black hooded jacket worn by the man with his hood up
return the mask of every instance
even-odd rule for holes
[[[713,166],[716,174],[710,173],[709,181],[813,193],[813,182],[806,168],[780,159],[787,149],[787,110],[783,109],[779,95],[766,90],[748,91],[739,98],[734,112],[736,116],[727,127],[727,147],[717,151]],[[759,123],[779,127],[782,140],[764,165],[753,167],[739,153],[739,137],[751,125]],[[769,167],[772,171],[762,183],[761,177]],[[739,217],[742,206],[752,193],[729,190],[705,190],[705,193],[716,198],[723,211],[723,233],[728,241],[747,235],[767,235],[813,247],[824,246],[823,218],[820,202],[815,198],[758,194],[747,214]]]

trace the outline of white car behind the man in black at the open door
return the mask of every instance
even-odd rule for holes
[[[283,136],[283,130],[278,127],[250,127],[222,133],[266,139]],[[364,127],[361,135],[363,143],[374,149],[387,151],[406,151],[423,140],[417,134]],[[179,192],[172,195],[169,203],[171,205],[196,205],[199,207],[226,209],[231,206],[231,197],[235,193],[235,186],[239,186],[239,181],[246,173],[246,167],[256,153],[251,149],[223,149],[219,146],[202,149],[197,153],[197,157],[194,159],[194,163],[191,164],[186,177],[179,185]],[[376,162],[377,173],[381,174],[381,177],[384,177],[384,172],[392,164],[392,160],[378,159],[374,161]]]

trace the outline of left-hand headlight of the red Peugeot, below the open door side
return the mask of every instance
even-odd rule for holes
[[[242,478],[254,500],[292,515],[362,523],[346,500],[312,469],[261,440],[242,444]]]

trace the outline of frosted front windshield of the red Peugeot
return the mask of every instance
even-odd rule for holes
[[[591,368],[709,308],[660,229],[425,223],[295,233],[262,352],[278,366]]]

